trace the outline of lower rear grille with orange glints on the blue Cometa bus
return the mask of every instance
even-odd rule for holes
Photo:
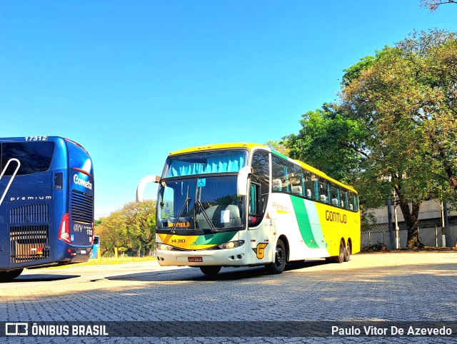
[[[49,226],[11,226],[9,244],[11,263],[49,258]]]

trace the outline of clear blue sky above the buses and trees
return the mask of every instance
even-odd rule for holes
[[[420,0],[3,0],[0,137],[81,143],[107,216],[170,151],[297,133],[343,69],[456,18]]]

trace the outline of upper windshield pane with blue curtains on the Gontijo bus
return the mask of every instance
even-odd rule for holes
[[[201,152],[173,156],[166,161],[162,178],[238,172],[246,166],[246,161],[246,151]]]

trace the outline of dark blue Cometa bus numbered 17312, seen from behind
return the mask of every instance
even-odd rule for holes
[[[0,138],[0,281],[81,263],[94,242],[94,168],[68,138]]]

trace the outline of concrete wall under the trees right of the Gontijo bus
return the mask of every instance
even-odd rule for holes
[[[437,233],[438,232],[438,235]],[[457,239],[457,226],[449,226],[444,231],[446,247],[453,247],[456,244]],[[408,238],[407,231],[400,231],[400,248],[406,247],[406,241]],[[436,246],[438,241],[438,247],[442,247],[441,242],[441,227],[438,228],[419,228],[419,238],[425,246]],[[383,243],[388,249],[396,248],[395,244],[395,232],[390,233],[384,232],[368,232],[362,233],[361,248],[375,245],[376,243]]]

